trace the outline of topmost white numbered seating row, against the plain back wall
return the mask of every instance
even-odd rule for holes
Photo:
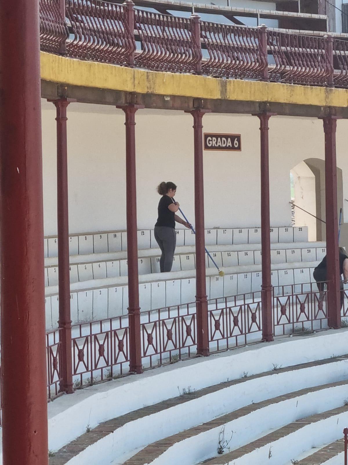
[[[275,227],[271,228],[271,242],[291,243],[307,242],[308,228],[303,227]],[[206,229],[207,246],[229,244],[260,244],[261,228],[239,229]],[[189,229],[176,229],[177,246],[194,245],[194,234]],[[114,231],[103,233],[86,233],[69,237],[70,254],[82,255],[87,253],[121,252],[127,250],[127,232]],[[138,231],[138,249],[158,248],[153,230]],[[44,239],[45,257],[57,257],[58,239],[49,237]]]

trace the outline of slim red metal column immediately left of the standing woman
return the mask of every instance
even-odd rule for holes
[[[135,112],[137,105],[123,106],[126,115],[126,203],[128,260],[129,371],[142,373],[140,332],[138,235],[136,221]]]

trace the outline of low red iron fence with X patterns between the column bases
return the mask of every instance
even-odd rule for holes
[[[341,316],[348,316],[348,291]],[[208,300],[209,351],[226,351],[262,339],[261,292]],[[196,355],[196,303],[141,313],[143,368],[175,363]],[[313,283],[273,288],[274,335],[326,329],[326,293],[319,299]],[[46,334],[47,397],[62,393],[61,343],[57,329]],[[129,373],[127,316],[72,326],[74,388],[116,379]],[[0,392],[1,402],[1,392]],[[1,417],[0,417],[1,419]],[[347,430],[348,432],[348,430]]]

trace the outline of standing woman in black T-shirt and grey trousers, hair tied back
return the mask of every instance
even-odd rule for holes
[[[191,228],[191,225],[175,213],[179,210],[179,203],[174,201],[176,186],[174,182],[161,182],[157,192],[162,196],[158,203],[158,219],[155,224],[154,235],[162,255],[160,259],[161,273],[172,269],[176,246],[175,221]]]

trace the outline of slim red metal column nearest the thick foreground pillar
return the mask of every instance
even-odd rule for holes
[[[71,314],[70,314],[70,254],[68,204],[68,152],[66,108],[69,100],[53,102],[57,109],[57,225],[58,225],[58,292],[59,332],[62,344],[62,385],[60,390],[72,394]]]

